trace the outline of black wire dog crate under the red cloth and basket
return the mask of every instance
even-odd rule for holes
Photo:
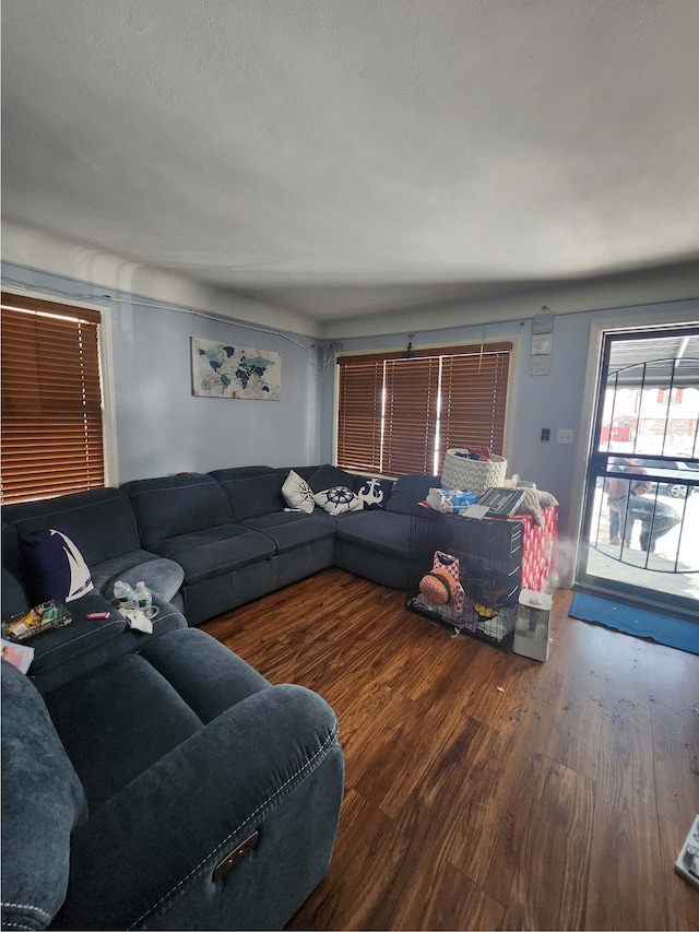
[[[414,509],[411,521],[411,576],[422,579],[442,552],[459,561],[463,605],[455,600],[436,604],[415,589],[406,607],[455,633],[493,647],[507,649],[514,636],[522,580],[522,524],[520,521],[466,518],[430,508]]]

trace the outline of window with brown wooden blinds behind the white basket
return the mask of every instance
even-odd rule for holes
[[[502,453],[510,343],[340,356],[337,463],[438,474],[452,447]]]

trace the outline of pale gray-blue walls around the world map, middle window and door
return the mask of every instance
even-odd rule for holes
[[[324,368],[320,366],[321,354],[312,338],[258,332],[240,322],[143,307],[128,303],[133,295],[118,292],[111,292],[112,296],[126,298],[126,303],[108,299],[96,285],[20,264],[3,263],[3,276],[49,295],[82,297],[109,307],[119,482],[232,465],[305,465],[333,460],[336,367],[332,359]],[[583,391],[591,328],[602,320],[625,327],[668,325],[688,308],[694,308],[696,319],[696,300],[558,314],[548,376],[529,375],[530,318],[420,330],[414,345],[514,340],[518,349],[505,451],[508,475],[519,473],[552,492],[560,502],[561,538],[572,539],[582,496],[581,467],[588,452],[583,428],[594,401],[593,392],[584,397]],[[190,337],[281,352],[282,400],[194,398]],[[343,351],[404,349],[406,342],[404,334],[368,335],[342,339],[341,345]],[[542,427],[550,429],[549,443],[542,443]],[[572,446],[555,443],[558,428],[574,432]]]

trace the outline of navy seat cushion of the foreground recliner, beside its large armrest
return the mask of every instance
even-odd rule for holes
[[[269,686],[211,635],[185,628],[67,683],[46,703],[94,813],[202,724]]]

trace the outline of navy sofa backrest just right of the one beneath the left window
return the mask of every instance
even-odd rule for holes
[[[206,473],[139,479],[120,486],[131,498],[143,546],[230,523],[228,499]]]

